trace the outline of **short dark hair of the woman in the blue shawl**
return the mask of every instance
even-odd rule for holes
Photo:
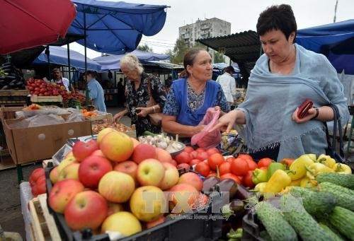
[[[259,15],[256,28],[259,36],[270,30],[280,30],[284,33],[286,39],[289,39],[290,34],[295,32],[293,41],[295,42],[297,24],[290,5],[281,4],[266,8]]]

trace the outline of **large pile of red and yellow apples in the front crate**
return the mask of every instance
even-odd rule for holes
[[[167,151],[110,128],[74,143],[50,180],[50,207],[72,230],[129,236],[209,202],[198,174],[179,176]]]

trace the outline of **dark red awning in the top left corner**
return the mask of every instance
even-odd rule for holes
[[[75,17],[70,0],[2,0],[0,54],[55,42]]]

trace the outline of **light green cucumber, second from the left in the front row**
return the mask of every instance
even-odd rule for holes
[[[282,214],[285,220],[292,225],[292,228],[296,230],[302,240],[331,240],[331,236],[307,213],[301,204],[301,200],[299,201],[295,196],[285,194],[280,198],[280,204],[282,205]]]

